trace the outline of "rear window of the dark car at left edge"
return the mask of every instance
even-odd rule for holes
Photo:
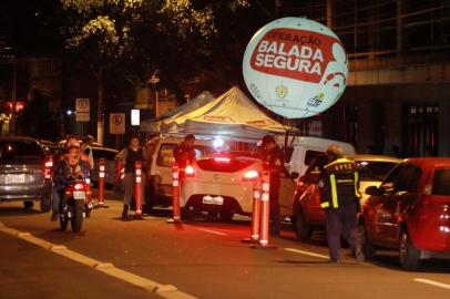
[[[42,147],[32,141],[3,141],[0,143],[0,162],[17,162],[23,159],[42,159]]]

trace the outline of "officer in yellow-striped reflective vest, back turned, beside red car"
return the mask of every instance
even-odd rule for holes
[[[360,197],[357,166],[355,162],[342,158],[342,150],[336,145],[330,145],[326,154],[328,164],[320,174],[320,207],[326,212],[329,262],[340,262],[340,236],[347,239],[356,260],[362,261],[357,228]]]

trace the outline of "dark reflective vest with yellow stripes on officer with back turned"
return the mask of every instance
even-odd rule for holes
[[[321,173],[321,208],[358,204],[359,174],[355,162],[338,158],[327,164]]]

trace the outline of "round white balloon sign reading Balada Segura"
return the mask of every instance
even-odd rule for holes
[[[342,94],[348,60],[339,38],[304,18],[283,18],[249,41],[243,72],[252,95],[288,118],[313,116]]]

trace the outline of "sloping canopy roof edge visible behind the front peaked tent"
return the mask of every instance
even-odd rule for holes
[[[201,106],[206,105],[211,101],[214,100],[214,96],[208,92],[204,91],[200,93],[197,96],[192,99],[190,102],[171,110],[163,115],[161,115],[157,120],[147,120],[141,123],[141,131],[146,133],[156,133],[161,132],[161,125],[163,123],[171,123],[177,117],[182,117],[184,114],[188,114]]]

